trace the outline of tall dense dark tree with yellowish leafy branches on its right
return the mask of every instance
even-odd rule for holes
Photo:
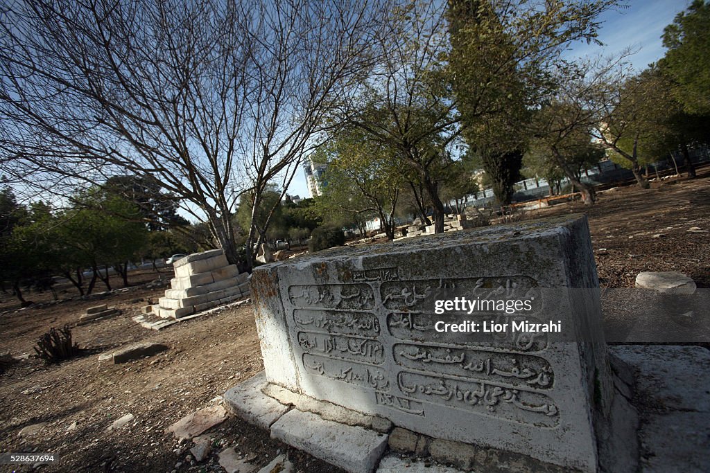
[[[532,111],[559,87],[555,69],[576,40],[596,40],[614,1],[449,1],[449,69],[463,134],[501,204],[509,204]],[[564,82],[564,79],[563,81]]]

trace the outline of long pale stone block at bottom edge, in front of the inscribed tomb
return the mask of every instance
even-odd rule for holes
[[[324,421],[314,413],[297,409],[271,425],[271,438],[351,473],[372,472],[387,447],[385,434]]]

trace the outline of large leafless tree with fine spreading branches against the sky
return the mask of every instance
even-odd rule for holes
[[[288,184],[370,60],[360,1],[14,1],[0,12],[0,162],[65,194],[153,175],[235,262],[236,202]],[[283,186],[285,189],[285,185]],[[256,210],[254,210],[256,211]],[[265,229],[249,230],[251,242]]]

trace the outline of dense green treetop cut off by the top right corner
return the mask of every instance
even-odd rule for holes
[[[677,87],[674,94],[686,113],[710,113],[710,4],[694,0],[663,30],[668,48],[662,68]]]

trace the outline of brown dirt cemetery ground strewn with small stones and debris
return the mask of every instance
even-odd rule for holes
[[[618,187],[604,191],[593,208],[579,202],[524,218],[586,211],[594,257],[606,287],[632,287],[642,271],[679,271],[699,287],[710,287],[710,169],[699,178],[652,182],[652,188]],[[421,237],[427,238],[427,237]],[[172,277],[162,269],[163,278]],[[18,310],[11,294],[0,294],[0,352],[33,354],[33,345],[50,327],[73,325],[86,308],[116,306],[121,315],[72,328],[81,357],[44,365],[29,357],[0,374],[0,451],[53,452],[58,464],[40,471],[171,472],[219,470],[217,453],[235,447],[253,464],[263,467],[280,451],[303,472],[334,472],[309,455],[272,441],[268,433],[237,418],[208,430],[214,435],[212,454],[192,465],[182,445],[165,428],[197,410],[217,403],[215,398],[238,382],[261,371],[262,361],[251,306],[175,323],[160,331],[133,322],[148,299],[157,301],[164,288],[148,289],[157,277],[150,270],[131,273],[129,291],[114,291],[102,299],[70,299],[46,304],[49,293],[26,294],[35,306]],[[118,279],[112,280],[120,287]],[[74,293],[59,287],[60,299]],[[66,293],[62,293],[66,289]],[[99,289],[100,290],[100,289]],[[168,345],[169,350],[119,365],[99,362],[102,352],[137,342]],[[126,414],[133,420],[107,430]],[[44,423],[33,435],[23,428]],[[194,461],[194,460],[193,460]],[[179,464],[179,466],[178,466]],[[31,466],[0,466],[1,471],[29,471]]]

